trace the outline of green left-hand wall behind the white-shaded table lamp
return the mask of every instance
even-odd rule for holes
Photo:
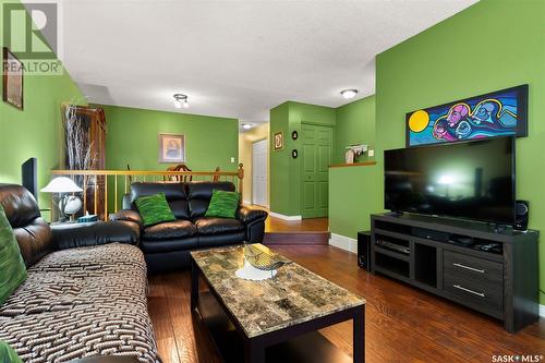
[[[4,2],[1,0],[0,7]],[[2,32],[0,26],[1,47]],[[0,182],[21,183],[21,164],[37,157],[38,187],[41,189],[50,180],[50,170],[62,164],[61,102],[78,102],[84,97],[66,71],[63,75],[26,72],[23,84],[23,111],[0,100]],[[49,201],[50,195],[40,194],[43,208],[50,207]]]

